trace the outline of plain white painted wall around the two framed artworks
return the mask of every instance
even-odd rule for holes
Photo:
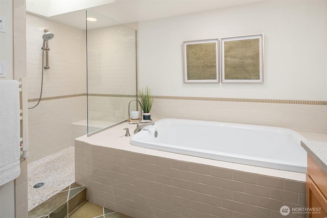
[[[325,5],[270,1],[139,22],[139,85],[154,95],[325,101]],[[258,33],[263,84],[183,83],[183,41]]]

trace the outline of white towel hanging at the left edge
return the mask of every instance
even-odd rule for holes
[[[0,186],[20,174],[18,88],[16,80],[0,80]]]

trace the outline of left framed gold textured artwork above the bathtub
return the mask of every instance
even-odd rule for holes
[[[219,83],[219,40],[183,42],[184,83]]]

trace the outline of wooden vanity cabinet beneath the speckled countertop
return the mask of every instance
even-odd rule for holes
[[[307,208],[320,208],[319,212],[308,213],[309,218],[327,217],[327,173],[308,154],[308,174],[306,182]]]

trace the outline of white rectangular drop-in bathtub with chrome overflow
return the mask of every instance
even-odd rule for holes
[[[157,134],[157,137],[155,135]],[[134,146],[307,173],[307,152],[297,132],[276,127],[161,119],[131,137]]]

